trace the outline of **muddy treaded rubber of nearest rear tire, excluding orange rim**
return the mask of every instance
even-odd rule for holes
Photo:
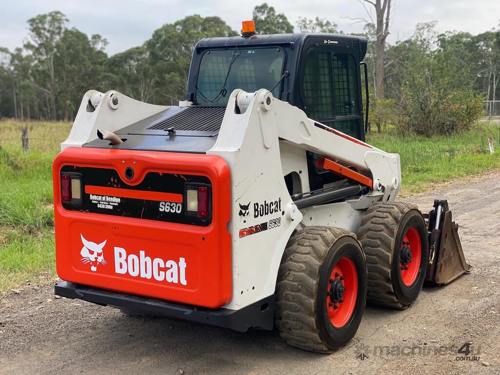
[[[358,250],[354,250],[354,246]],[[359,267],[358,297],[345,328],[334,328],[329,320],[325,323],[324,314],[318,312],[324,308],[328,319],[325,307],[326,287],[324,296],[318,296],[317,291],[325,285],[325,275],[329,279],[336,257],[342,255],[337,247],[355,254],[355,264]],[[345,250],[347,247],[349,249]],[[335,252],[339,254],[333,255]],[[331,260],[335,263],[323,266]],[[276,283],[276,325],[288,344],[320,353],[331,353],[344,346],[357,330],[365,298],[366,265],[354,233],[335,227],[308,226],[289,239]],[[332,331],[334,337],[331,337]]]

